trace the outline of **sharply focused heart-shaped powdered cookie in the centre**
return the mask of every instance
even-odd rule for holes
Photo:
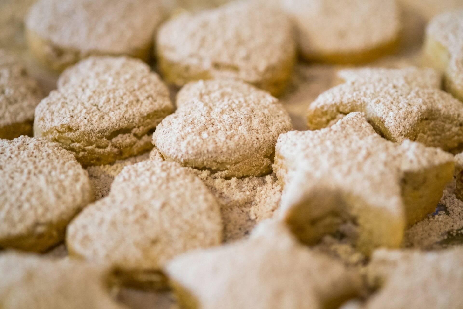
[[[153,144],[167,161],[226,178],[269,173],[276,139],[292,130],[282,104],[244,82],[192,82],[178,93],[177,107],[157,126]]]

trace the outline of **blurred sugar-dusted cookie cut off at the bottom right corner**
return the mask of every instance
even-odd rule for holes
[[[462,308],[463,250],[378,250],[367,268],[378,290],[365,309]]]

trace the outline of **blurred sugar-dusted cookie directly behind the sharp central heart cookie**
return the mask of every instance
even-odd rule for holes
[[[156,57],[167,82],[234,78],[278,95],[295,63],[288,17],[253,1],[235,1],[198,14],[183,13],[163,24]]]

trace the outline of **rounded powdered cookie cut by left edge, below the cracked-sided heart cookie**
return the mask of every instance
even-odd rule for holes
[[[43,252],[94,200],[87,172],[55,143],[0,139],[0,247]]]

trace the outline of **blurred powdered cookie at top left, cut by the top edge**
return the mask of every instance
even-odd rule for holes
[[[32,54],[62,71],[92,55],[150,59],[163,20],[156,0],[39,0],[25,20]]]

